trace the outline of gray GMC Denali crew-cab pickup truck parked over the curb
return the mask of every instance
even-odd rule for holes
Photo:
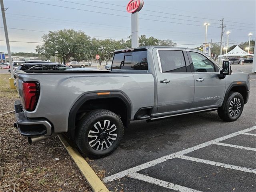
[[[231,74],[232,73],[232,74]],[[16,126],[29,143],[65,133],[88,156],[121,142],[133,120],[217,110],[235,121],[249,98],[249,76],[202,52],[144,46],[116,50],[110,71],[15,71]]]

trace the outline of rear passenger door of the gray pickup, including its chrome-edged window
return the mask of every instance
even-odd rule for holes
[[[194,98],[194,77],[185,49],[156,48],[156,54],[158,112],[189,109]]]

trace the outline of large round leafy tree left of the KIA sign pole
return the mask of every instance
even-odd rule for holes
[[[73,29],[49,31],[48,34],[42,36],[42,41],[44,44],[36,46],[36,52],[46,58],[50,56],[64,58],[66,62],[71,57],[81,59],[90,47],[90,36]]]

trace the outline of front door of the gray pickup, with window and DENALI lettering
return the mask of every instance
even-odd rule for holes
[[[188,51],[188,58],[193,64],[195,82],[195,96],[192,108],[210,108],[218,106],[223,97],[226,87],[226,78],[220,79],[220,69],[196,50]]]

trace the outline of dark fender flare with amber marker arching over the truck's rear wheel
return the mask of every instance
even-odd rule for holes
[[[110,92],[108,95],[97,95],[100,92]],[[107,99],[107,98],[118,98],[124,102],[126,106],[126,126],[130,124],[131,114],[132,114],[132,105],[129,97],[122,92],[121,90],[98,90],[98,91],[90,91],[85,92],[80,95],[80,97],[76,100],[70,112],[68,114],[68,135],[74,139],[75,137],[75,129],[76,129],[76,114],[80,106],[82,106],[85,102],[89,100],[96,100],[96,99]]]

